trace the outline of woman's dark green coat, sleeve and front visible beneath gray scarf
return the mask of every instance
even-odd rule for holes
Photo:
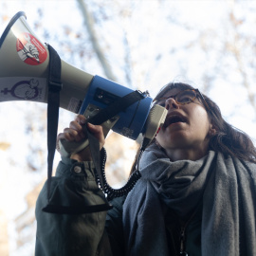
[[[51,203],[77,207],[81,204],[105,203],[91,162],[79,163],[63,157],[51,182]],[[125,197],[114,199],[112,210],[87,214],[46,213],[47,186],[39,194],[36,204],[35,256],[122,256],[125,243],[122,230],[122,205]],[[166,210],[166,232],[170,241],[170,255],[178,255],[180,222],[174,212]],[[185,248],[189,255],[201,255],[201,208],[186,229]],[[157,229],[157,224],[155,224]],[[154,230],[152,230],[154,235]],[[158,256],[158,255],[155,255]]]

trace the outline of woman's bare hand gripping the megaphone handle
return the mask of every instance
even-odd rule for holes
[[[64,133],[58,135],[57,142],[59,141],[59,139],[65,139],[66,141],[81,141],[86,137],[86,135],[82,132],[82,125],[87,125],[88,130],[94,135],[94,137],[97,137],[99,139],[101,150],[105,143],[105,137],[103,135],[101,125],[93,125],[91,123],[85,124],[85,122],[86,119],[84,118],[84,116],[77,116],[75,120],[70,122],[69,128],[65,128]],[[72,154],[70,158],[78,160],[80,162],[90,161],[92,158],[89,146],[76,154]]]

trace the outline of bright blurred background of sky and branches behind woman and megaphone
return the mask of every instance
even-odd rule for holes
[[[189,82],[256,141],[255,1],[0,0],[0,34],[20,10],[65,62],[152,97],[168,82]],[[46,181],[46,104],[1,102],[0,118],[0,255],[29,256]],[[59,132],[74,118],[61,109]],[[119,188],[137,142],[112,133],[105,147],[108,181]]]

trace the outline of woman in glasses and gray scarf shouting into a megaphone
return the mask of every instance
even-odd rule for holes
[[[42,190],[36,210],[37,256],[256,255],[252,141],[189,84],[167,84],[155,103],[168,110],[165,123],[135,161],[133,171],[138,166],[141,174],[135,188],[114,199],[106,216],[45,213],[46,187]],[[81,140],[84,122],[79,116],[59,138]],[[88,129],[102,147],[101,126],[88,124]],[[70,205],[74,194],[105,202],[88,149],[70,158],[59,164],[53,197]]]

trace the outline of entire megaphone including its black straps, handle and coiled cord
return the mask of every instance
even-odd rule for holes
[[[52,70],[55,70],[55,68],[51,68],[53,59],[51,58],[52,55],[49,55],[50,52],[52,53],[52,47],[43,44],[28,27],[25,13],[20,11],[14,15],[0,38],[0,101],[38,101],[48,103],[48,106],[52,106],[52,91],[51,89],[49,90],[52,86],[52,81],[49,77],[52,77]],[[60,95],[58,92],[58,98],[54,98],[58,101],[58,104],[54,104],[53,111],[55,113],[54,117],[57,116],[57,119],[58,112],[56,115],[56,105],[57,110],[59,110],[58,108],[60,106],[73,113],[80,113],[86,119],[97,119],[97,117],[104,116],[109,109],[113,110],[124,99],[127,102],[127,96],[129,97],[137,92],[117,82],[106,80],[100,76],[93,76],[67,64],[59,59],[59,55],[56,66],[58,66],[59,70],[57,76],[58,82],[56,84],[58,84],[59,88],[62,87]],[[62,86],[60,86],[59,75],[61,76]],[[129,104],[120,103],[122,107],[112,111],[111,115],[108,113],[102,119],[104,121],[101,125],[104,136],[107,135],[110,129],[132,139],[137,139],[142,134],[144,139],[141,148],[143,148],[144,141],[149,143],[155,137],[158,128],[165,120],[167,110],[158,105],[153,106],[153,99],[147,93],[138,93],[139,97],[137,101],[129,101]],[[119,109],[121,110],[119,111]],[[112,115],[113,113],[115,114]],[[48,120],[50,120],[51,124],[54,122],[53,130],[55,130],[57,126],[56,119]],[[86,131],[86,125],[83,128]],[[49,135],[49,132],[51,132],[49,126],[47,126],[47,129]],[[88,139],[85,139],[79,144],[60,140],[61,150],[64,152],[64,155],[69,156],[72,153],[79,152],[88,145],[88,140],[95,140],[95,137],[91,137],[89,132],[87,135]],[[50,143],[50,147],[48,147],[48,204],[43,210],[46,212],[68,214],[109,210],[110,205],[108,203],[91,205],[84,201],[81,207],[74,209],[73,207],[56,205],[56,203],[49,201],[51,196],[50,182],[56,137],[54,136],[54,141],[53,139],[49,139],[49,137],[47,139],[48,142],[53,143]],[[96,149],[97,143],[91,143],[90,149]],[[99,150],[99,147],[97,150]],[[92,155],[99,157],[99,154]],[[99,184],[101,184],[103,192],[107,193],[108,198],[127,194],[140,177],[137,171],[131,175],[123,188],[114,190],[103,180],[105,175],[101,174],[102,170],[99,170],[100,160],[96,161],[94,159],[94,163],[97,167],[96,175],[100,180]]]

